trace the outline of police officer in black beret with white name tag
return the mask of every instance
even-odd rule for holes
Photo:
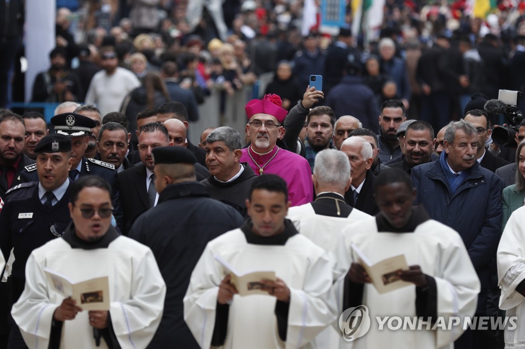
[[[0,249],[5,260],[12,248],[15,255],[8,279],[9,306],[24,290],[26,261],[31,252],[61,236],[71,221],[68,209],[73,183],[68,177],[71,140],[64,135],[47,135],[34,151],[38,181],[21,183],[8,190],[0,212]],[[8,347],[26,347],[12,321]]]

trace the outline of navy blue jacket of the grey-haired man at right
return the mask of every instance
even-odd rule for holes
[[[481,282],[476,313],[487,314],[487,307],[493,309],[494,305],[488,304],[487,298],[497,300],[492,292],[497,288],[495,266],[501,237],[503,182],[477,161],[466,171],[455,193],[439,161],[414,167],[412,180],[417,190],[416,203],[422,204],[432,219],[453,228],[463,238]]]

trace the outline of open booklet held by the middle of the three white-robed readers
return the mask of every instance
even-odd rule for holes
[[[214,258],[222,264],[226,269],[229,270],[230,283],[235,286],[239,292],[239,296],[249,296],[249,295],[268,295],[268,292],[262,290],[264,285],[260,282],[262,279],[276,281],[275,271],[268,270],[249,270],[240,274],[234,267],[229,265],[224,259],[219,256],[214,256]]]

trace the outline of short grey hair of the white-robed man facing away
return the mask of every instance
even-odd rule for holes
[[[320,184],[338,186],[344,191],[350,178],[350,162],[344,152],[324,149],[317,153],[313,174]]]

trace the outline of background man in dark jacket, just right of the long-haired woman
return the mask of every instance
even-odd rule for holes
[[[171,100],[181,102],[186,108],[189,121],[198,120],[198,108],[195,95],[188,90],[181,88],[177,81],[177,64],[172,61],[167,61],[162,64],[161,78],[166,84],[167,92],[170,94]]]

